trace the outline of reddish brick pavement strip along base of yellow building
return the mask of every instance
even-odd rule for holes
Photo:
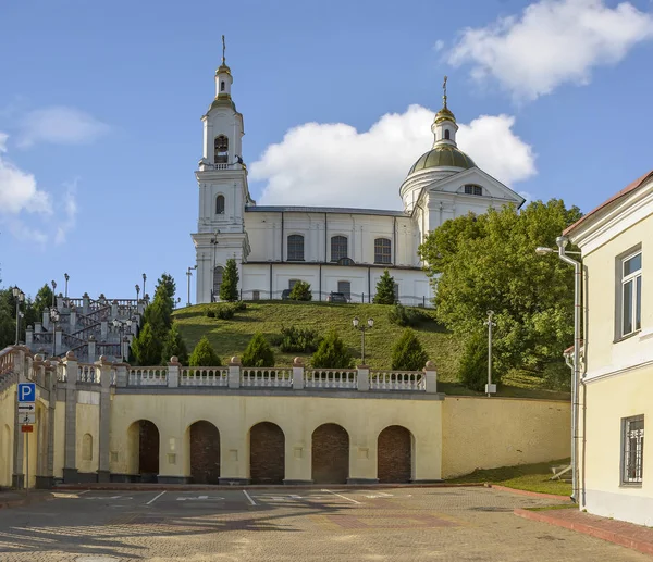
[[[653,528],[600,517],[575,509],[547,511],[516,509],[515,514],[523,519],[583,533],[653,555]]]

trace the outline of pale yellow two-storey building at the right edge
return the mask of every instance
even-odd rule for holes
[[[564,233],[582,253],[580,507],[653,525],[653,172]]]

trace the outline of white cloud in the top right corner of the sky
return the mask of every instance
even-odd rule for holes
[[[618,63],[651,38],[653,15],[629,2],[540,0],[520,17],[465,29],[447,59],[471,64],[472,77],[493,77],[516,99],[533,100],[562,84],[588,84],[593,68]]]

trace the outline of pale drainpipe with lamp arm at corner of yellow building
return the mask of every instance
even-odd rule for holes
[[[578,501],[578,460],[577,460],[577,447],[576,442],[578,439],[578,384],[580,380],[580,347],[582,345],[580,334],[580,314],[581,314],[581,284],[582,284],[582,264],[569,258],[568,254],[581,255],[580,252],[568,252],[566,247],[569,243],[569,238],[566,236],[558,236],[555,239],[555,243],[558,247],[558,258],[567,263],[574,265],[574,375],[571,377],[571,499]],[[546,255],[554,253],[553,248],[545,248],[539,246],[535,248],[538,255]]]

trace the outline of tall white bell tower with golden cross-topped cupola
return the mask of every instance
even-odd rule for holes
[[[198,303],[219,300],[226,260],[234,258],[242,270],[249,253],[244,213],[245,205],[252,201],[242,157],[245,130],[243,114],[236,110],[231,95],[233,76],[226,65],[225,50],[223,35],[222,64],[215,71],[215,98],[201,117],[202,157],[195,172],[199,213],[197,232],[192,237]]]

